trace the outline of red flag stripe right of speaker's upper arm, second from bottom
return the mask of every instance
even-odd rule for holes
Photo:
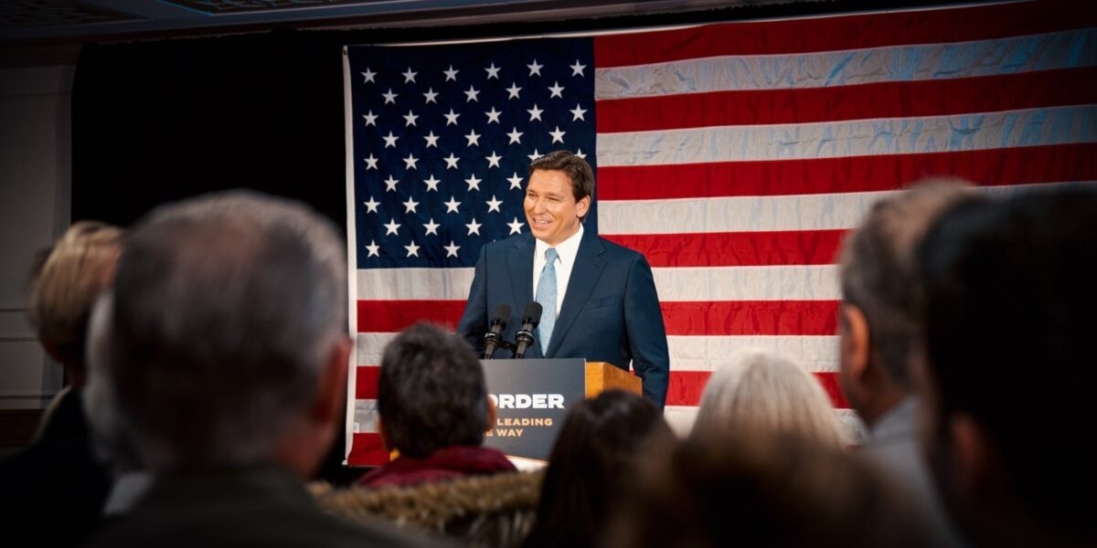
[[[668,335],[833,335],[837,300],[660,302]]]

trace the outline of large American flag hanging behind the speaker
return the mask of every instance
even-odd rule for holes
[[[654,32],[347,48],[348,463],[376,435],[382,350],[455,326],[486,242],[527,231],[529,163],[596,170],[586,229],[655,274],[667,416],[760,346],[839,413],[835,255],[882,196],[929,175],[987,187],[1097,180],[1097,10],[1017,2]]]

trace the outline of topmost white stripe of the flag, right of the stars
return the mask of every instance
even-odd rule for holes
[[[794,55],[739,55],[595,71],[595,98],[828,88],[1097,65],[1097,30]]]

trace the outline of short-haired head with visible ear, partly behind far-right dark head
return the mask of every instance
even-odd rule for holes
[[[838,380],[870,426],[913,390],[909,361],[921,340],[916,248],[943,209],[979,198],[961,181],[927,181],[877,202],[846,238]]]

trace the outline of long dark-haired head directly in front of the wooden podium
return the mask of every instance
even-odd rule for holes
[[[672,443],[644,398],[609,390],[576,403],[561,427],[528,546],[591,546],[638,471],[644,447]]]

